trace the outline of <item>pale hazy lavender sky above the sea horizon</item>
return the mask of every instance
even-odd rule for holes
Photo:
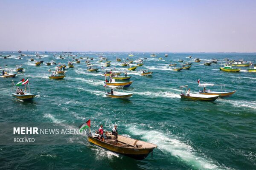
[[[0,51],[256,51],[256,0],[0,0]]]

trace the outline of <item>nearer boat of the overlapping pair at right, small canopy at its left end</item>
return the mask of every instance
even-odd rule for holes
[[[187,85],[180,86],[180,88],[186,88],[187,91]],[[190,90],[190,89],[189,89]],[[207,102],[214,102],[216,99],[218,99],[220,95],[206,95],[206,94],[184,94],[182,91],[180,91],[180,97],[181,99],[189,99],[189,100],[200,100],[200,101],[207,101]]]

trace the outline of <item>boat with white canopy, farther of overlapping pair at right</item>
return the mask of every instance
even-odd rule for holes
[[[199,90],[199,94],[205,94],[205,95],[220,95],[219,97],[230,97],[232,94],[234,94],[236,91],[226,91],[226,85],[220,85],[221,91],[211,91],[210,89],[206,89],[207,86],[214,86],[214,84],[204,83],[199,84],[198,87],[203,88],[203,90]],[[223,89],[224,87],[224,89]]]

